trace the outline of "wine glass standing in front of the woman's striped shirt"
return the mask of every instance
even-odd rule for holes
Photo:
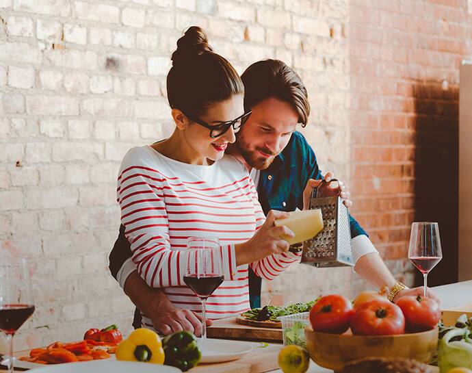
[[[220,241],[215,237],[189,237],[187,266],[183,282],[202,302],[202,343],[207,342],[207,316],[205,305],[224,280]]]

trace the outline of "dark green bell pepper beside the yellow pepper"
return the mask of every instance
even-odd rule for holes
[[[195,335],[187,331],[179,331],[162,339],[166,355],[165,365],[179,368],[182,372],[194,368],[202,357]]]

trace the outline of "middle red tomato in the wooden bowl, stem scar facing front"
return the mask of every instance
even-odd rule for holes
[[[405,317],[402,309],[389,300],[369,300],[352,315],[351,329],[355,335],[402,334],[405,332]]]

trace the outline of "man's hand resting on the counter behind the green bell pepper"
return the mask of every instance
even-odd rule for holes
[[[202,335],[202,317],[189,309],[179,309],[171,303],[160,305],[159,310],[149,315],[153,320],[154,329],[161,335],[168,335],[178,331],[189,331],[197,337]],[[207,320],[207,326],[211,320]]]

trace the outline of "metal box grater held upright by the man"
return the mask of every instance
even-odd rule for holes
[[[339,196],[319,196],[319,189],[329,183],[324,181],[311,194],[309,208],[322,210],[324,228],[303,242],[301,262],[318,268],[354,266],[348,208]]]

